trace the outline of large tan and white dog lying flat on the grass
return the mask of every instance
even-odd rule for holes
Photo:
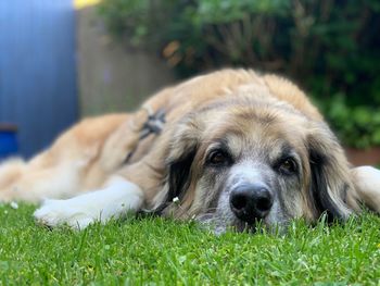
[[[85,120],[30,162],[0,166],[0,200],[45,198],[69,198],[35,212],[50,226],[143,209],[242,231],[324,212],[345,220],[362,202],[379,212],[380,172],[351,169],[288,80],[225,70],[164,89],[136,113]]]

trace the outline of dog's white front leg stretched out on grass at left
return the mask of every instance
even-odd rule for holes
[[[139,186],[122,176],[113,176],[103,189],[66,200],[47,199],[34,215],[45,225],[67,224],[83,229],[96,221],[105,223],[112,217],[138,211],[143,199]]]

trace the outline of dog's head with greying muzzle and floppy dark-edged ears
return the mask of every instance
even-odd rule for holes
[[[346,159],[325,123],[283,102],[239,99],[176,125],[164,212],[218,231],[314,222],[324,212],[344,220],[351,188]]]

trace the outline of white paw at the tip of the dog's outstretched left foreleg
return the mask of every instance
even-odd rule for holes
[[[35,211],[34,216],[38,223],[50,227],[68,225],[75,229],[84,229],[97,221],[94,215],[84,212],[80,208],[71,206],[65,200],[46,200]]]

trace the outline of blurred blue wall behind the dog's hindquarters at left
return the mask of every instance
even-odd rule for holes
[[[0,0],[0,122],[21,153],[46,148],[77,119],[72,0]]]

